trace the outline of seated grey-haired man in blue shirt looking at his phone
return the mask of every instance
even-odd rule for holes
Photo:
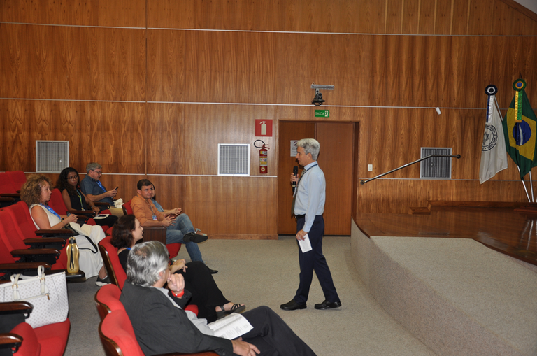
[[[123,209],[115,208],[112,199],[117,195],[117,187],[113,190],[106,190],[103,183],[101,183],[102,168],[101,164],[95,162],[87,164],[87,176],[80,182],[80,190],[82,190],[87,199],[94,203],[99,202],[110,205],[109,209],[112,215],[120,217],[123,215]]]

